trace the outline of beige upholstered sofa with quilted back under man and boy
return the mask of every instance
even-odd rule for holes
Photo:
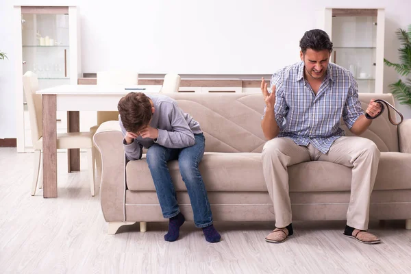
[[[262,175],[261,151],[266,142],[260,121],[260,94],[174,93],[167,96],[199,121],[206,136],[200,164],[214,221],[273,221],[273,204]],[[393,102],[391,95],[360,94],[363,108],[371,98]],[[345,127],[347,135],[350,132]],[[381,153],[370,219],[402,219],[411,229],[411,119],[398,127],[388,122],[387,110],[364,135]],[[99,127],[94,142],[102,158],[101,209],[109,234],[121,225],[165,221],[145,161],[125,162],[118,121]],[[192,210],[178,164],[169,163],[177,199],[186,219]],[[294,220],[345,220],[351,169],[331,162],[290,166],[290,197]]]

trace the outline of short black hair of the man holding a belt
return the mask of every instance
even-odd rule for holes
[[[332,42],[329,40],[327,32],[321,29],[311,29],[306,32],[300,40],[300,47],[304,54],[306,54],[307,49],[312,49],[313,51],[327,49],[330,53],[332,52]]]

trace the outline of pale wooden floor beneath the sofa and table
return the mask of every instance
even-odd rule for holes
[[[0,148],[0,273],[411,273],[411,231],[403,221],[371,223],[380,245],[345,238],[345,222],[296,222],[282,244],[264,237],[273,223],[215,223],[222,241],[210,244],[193,223],[165,242],[166,223],[122,227],[110,236],[98,188],[90,196],[86,154],[82,171],[66,173],[58,153],[57,199],[30,196],[32,153]]]

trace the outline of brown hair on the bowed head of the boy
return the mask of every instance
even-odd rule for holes
[[[127,132],[136,133],[150,123],[151,102],[142,92],[129,92],[117,105],[121,122]]]

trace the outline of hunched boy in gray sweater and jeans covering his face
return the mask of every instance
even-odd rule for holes
[[[148,149],[147,164],[158,201],[164,218],[169,219],[169,232],[164,235],[164,240],[177,240],[179,227],[185,221],[167,167],[168,161],[178,160],[195,226],[203,229],[208,242],[219,242],[221,236],[212,225],[210,202],[199,171],[205,147],[199,123],[184,113],[175,100],[165,95],[130,92],[119,101],[118,109],[127,159],[139,160],[142,147]]]

